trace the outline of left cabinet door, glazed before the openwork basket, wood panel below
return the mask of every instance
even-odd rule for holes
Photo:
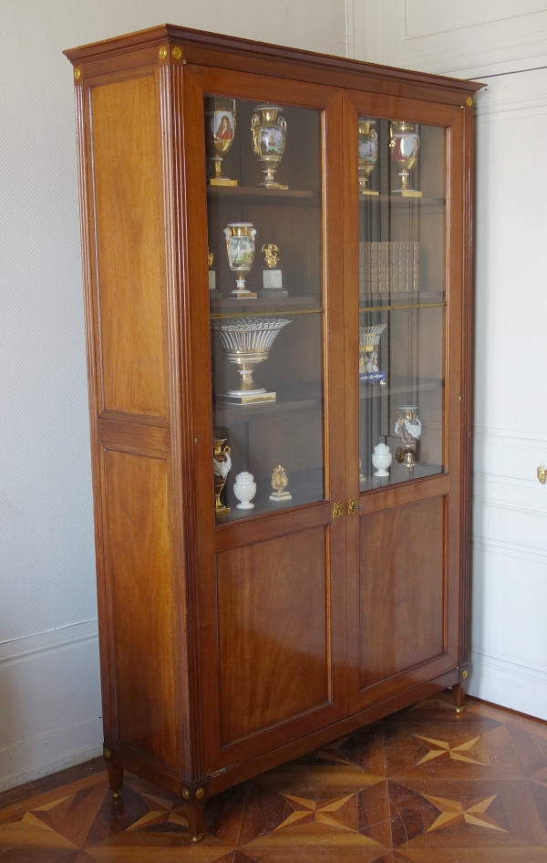
[[[184,77],[212,773],[344,714],[343,99],[191,64]]]

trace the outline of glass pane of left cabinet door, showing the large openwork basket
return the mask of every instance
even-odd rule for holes
[[[323,500],[320,111],[205,97],[217,525]]]

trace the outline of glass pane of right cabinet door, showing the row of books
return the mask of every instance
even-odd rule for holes
[[[443,470],[445,130],[360,117],[359,483]]]

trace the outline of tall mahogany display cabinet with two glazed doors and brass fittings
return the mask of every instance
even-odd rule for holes
[[[480,85],[161,26],[74,67],[105,757],[207,799],[469,673]]]

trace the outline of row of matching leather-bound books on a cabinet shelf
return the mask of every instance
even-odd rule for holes
[[[419,291],[419,241],[359,243],[359,293],[399,294]]]

